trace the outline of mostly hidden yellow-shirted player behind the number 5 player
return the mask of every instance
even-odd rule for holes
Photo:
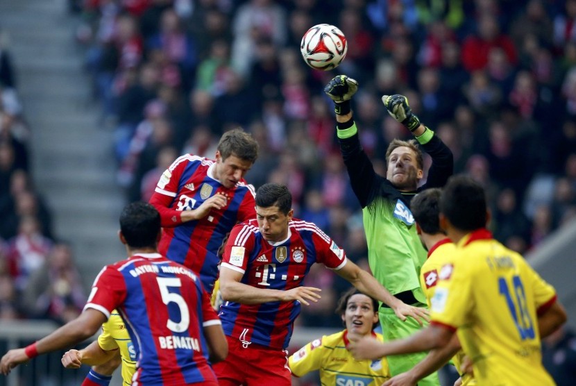
[[[118,367],[117,362],[113,361],[118,353],[122,364],[122,385],[129,386],[136,371],[136,351],[124,320],[115,310],[110,314],[110,319],[102,324],[98,340],[80,351],[67,351],[62,357],[62,365],[67,369],[78,369],[81,364],[93,366],[82,386],[108,385],[112,372]]]

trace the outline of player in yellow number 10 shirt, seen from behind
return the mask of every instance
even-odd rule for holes
[[[554,385],[542,365],[540,338],[566,321],[554,288],[518,253],[493,240],[482,187],[450,178],[440,200],[440,224],[456,257],[439,271],[432,323],[406,339],[350,345],[359,358],[439,349],[458,334],[480,386]]]

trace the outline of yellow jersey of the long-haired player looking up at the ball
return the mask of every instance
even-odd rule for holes
[[[310,371],[319,370],[322,385],[362,385],[380,386],[390,378],[386,358],[379,360],[355,360],[346,349],[347,330],[332,335],[324,335],[288,358],[292,374],[304,376]],[[375,334],[382,342],[382,335]]]

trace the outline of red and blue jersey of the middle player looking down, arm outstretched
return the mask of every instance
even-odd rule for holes
[[[244,274],[242,283],[271,290],[299,287],[319,262],[330,269],[346,265],[346,253],[320,228],[292,219],[286,240],[270,244],[262,237],[255,219],[232,229],[224,249],[222,269]],[[292,335],[300,302],[269,302],[255,305],[226,302],[219,317],[224,333],[243,342],[285,349]]]

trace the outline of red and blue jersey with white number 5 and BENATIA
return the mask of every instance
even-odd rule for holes
[[[201,281],[159,253],[104,267],[86,308],[110,317],[115,308],[135,345],[132,385],[187,385],[216,380],[203,327],[220,324]]]

